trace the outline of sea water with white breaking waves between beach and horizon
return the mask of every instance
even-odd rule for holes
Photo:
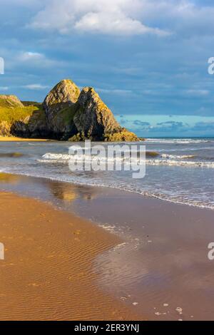
[[[132,171],[71,172],[68,168],[70,145],[65,142],[0,143],[0,170],[80,185],[113,187],[214,209],[214,138],[148,138],[141,145],[146,145],[146,151],[159,155],[147,157],[143,179],[133,179]],[[87,152],[84,154],[87,157]]]

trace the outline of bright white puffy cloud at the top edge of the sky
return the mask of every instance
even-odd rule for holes
[[[76,30],[124,36],[144,33],[168,35],[168,31],[142,23],[138,14],[145,4],[142,0],[49,0],[36,14],[31,26],[56,29],[61,33]]]

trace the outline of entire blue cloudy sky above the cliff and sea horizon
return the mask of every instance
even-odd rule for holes
[[[0,41],[0,94],[71,78],[139,136],[214,136],[213,0],[0,0]]]

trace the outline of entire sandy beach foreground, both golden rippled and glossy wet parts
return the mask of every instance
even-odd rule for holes
[[[1,320],[213,318],[213,210],[4,173],[0,189]]]

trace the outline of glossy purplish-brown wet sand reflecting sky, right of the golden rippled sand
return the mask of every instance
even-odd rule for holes
[[[214,320],[213,210],[110,189],[88,202],[78,198],[73,209],[109,222],[126,241],[96,259],[106,292],[137,301],[149,320]]]

